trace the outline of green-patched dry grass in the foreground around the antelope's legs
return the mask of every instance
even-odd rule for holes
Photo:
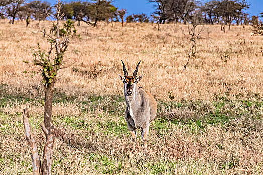
[[[30,172],[29,146],[24,136],[21,112],[16,112],[24,105],[31,106],[33,136],[40,153],[43,149],[45,138],[39,127],[43,122],[42,111],[37,110],[39,106],[28,102],[13,105],[13,112],[4,108],[7,114],[0,116],[1,174]],[[206,122],[208,116],[201,120],[201,125],[198,124],[200,120],[193,119],[196,113],[207,113],[202,104],[199,105],[201,112],[188,105],[171,108],[170,112],[177,110],[181,113],[176,114],[177,119],[167,115],[167,118],[155,120],[149,134],[149,154],[144,156],[139,136],[137,152],[131,153],[130,135],[123,116],[100,110],[106,104],[101,105],[86,113],[83,110],[86,105],[69,104],[66,105],[68,114],[58,112],[65,109],[64,104],[55,105],[58,115],[53,117],[57,125],[54,174],[262,174],[262,107],[250,114],[244,105],[236,103],[239,115],[224,126]],[[71,113],[72,109],[83,112],[75,115],[77,112]],[[192,112],[189,114],[188,110]],[[215,110],[231,118],[234,107],[227,111],[223,108]]]

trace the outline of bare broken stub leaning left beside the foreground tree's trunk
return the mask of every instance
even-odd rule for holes
[[[37,145],[35,142],[35,139],[30,134],[30,126],[29,126],[29,114],[28,109],[25,108],[23,110],[23,122],[24,122],[24,128],[26,133],[26,139],[30,146],[30,154],[32,159],[32,166],[33,166],[33,174],[39,175],[40,173],[40,167],[41,167],[41,161],[38,155]]]

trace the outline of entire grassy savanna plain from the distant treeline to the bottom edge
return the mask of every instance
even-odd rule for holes
[[[30,174],[22,110],[28,107],[40,156],[44,87],[29,66],[51,22],[0,21],[0,174]],[[263,174],[263,37],[251,26],[203,28],[197,53],[188,25],[81,23],[70,38],[53,103],[53,174]],[[124,118],[121,60],[157,100],[143,154]],[[23,62],[24,61],[24,62]],[[25,73],[27,71],[28,73]],[[33,73],[30,73],[32,72]]]

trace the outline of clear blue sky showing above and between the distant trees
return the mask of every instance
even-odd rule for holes
[[[51,4],[56,3],[56,0],[46,1],[50,2]],[[70,2],[75,0],[62,1]],[[250,8],[247,10],[248,14],[258,15],[260,12],[263,12],[263,0],[247,0],[247,2],[250,4]],[[127,9],[128,14],[146,13],[147,15],[150,15],[155,10],[153,4],[148,3],[147,0],[114,0],[113,4],[118,8]]]

